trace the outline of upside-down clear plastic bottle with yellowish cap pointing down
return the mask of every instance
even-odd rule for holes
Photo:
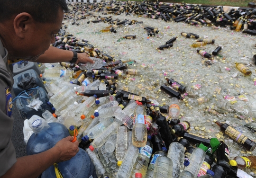
[[[127,127],[119,126],[116,142],[116,158],[118,166],[121,166],[127,151]]]

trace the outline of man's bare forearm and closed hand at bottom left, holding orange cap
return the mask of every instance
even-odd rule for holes
[[[0,178],[37,178],[55,162],[70,160],[79,151],[78,142],[68,136],[42,153],[17,158],[17,162]]]

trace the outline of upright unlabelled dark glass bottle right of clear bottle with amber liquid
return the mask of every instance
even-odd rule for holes
[[[170,132],[167,120],[165,116],[161,114],[159,107],[155,108],[155,120],[156,124],[160,127],[159,132],[165,142],[166,148],[168,149],[170,144],[173,142],[173,136]]]

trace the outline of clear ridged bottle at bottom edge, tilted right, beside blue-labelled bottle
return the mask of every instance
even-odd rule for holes
[[[121,164],[121,166],[118,170],[117,178],[129,178],[130,177],[133,165],[138,156],[138,152],[139,151],[136,146],[130,145],[128,147],[128,150],[127,150],[127,153],[123,160],[123,163]]]

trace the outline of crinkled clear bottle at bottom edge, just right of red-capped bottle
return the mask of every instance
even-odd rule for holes
[[[117,165],[115,153],[106,152],[106,145],[103,145],[101,148],[99,148],[98,154],[103,166],[109,173],[109,178],[117,178],[119,166]]]

